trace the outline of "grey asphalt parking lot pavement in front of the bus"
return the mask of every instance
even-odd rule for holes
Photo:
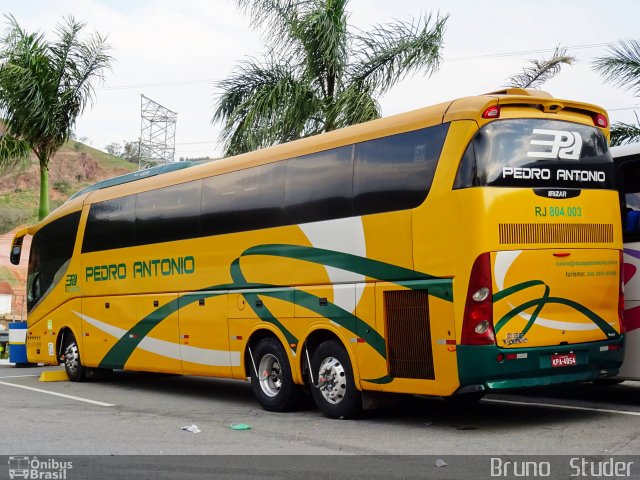
[[[640,384],[573,385],[488,395],[456,406],[406,397],[359,420],[311,404],[270,413],[248,382],[116,372],[38,381],[60,367],[0,365],[0,454],[636,454]],[[200,433],[182,430],[197,425]],[[233,430],[246,424],[250,430]]]

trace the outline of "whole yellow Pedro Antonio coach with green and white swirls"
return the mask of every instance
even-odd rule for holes
[[[329,417],[613,376],[607,136],[598,107],[505,90],[98,184],[15,236],[29,361],[250,378]]]

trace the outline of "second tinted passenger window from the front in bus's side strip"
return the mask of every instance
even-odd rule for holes
[[[202,180],[198,180],[139,193],[136,201],[136,244],[198,237],[201,191]]]

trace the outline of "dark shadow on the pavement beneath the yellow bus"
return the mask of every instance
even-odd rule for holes
[[[159,373],[115,372],[101,379],[112,388],[161,395],[167,399],[188,402],[189,399],[227,403],[229,406],[259,410],[251,384],[231,379],[194,377]],[[553,427],[578,423],[606,413],[591,410],[560,409],[553,405],[616,408],[640,404],[640,388],[636,385],[601,386],[592,384],[547,387],[535,390],[487,395],[476,403],[460,404],[438,397],[401,395],[396,405],[369,410],[361,420],[389,423],[414,428],[439,426],[460,431],[509,431],[531,427]],[[506,403],[503,403],[506,402]],[[516,402],[516,403],[509,403]],[[533,405],[527,403],[534,402]],[[606,405],[604,403],[606,402]],[[549,403],[544,406],[542,403]],[[625,409],[625,408],[620,408]],[[322,418],[311,396],[298,409],[303,415]]]

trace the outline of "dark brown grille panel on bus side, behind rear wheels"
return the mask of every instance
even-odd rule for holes
[[[389,375],[395,378],[435,379],[427,292],[384,292],[384,307]]]

